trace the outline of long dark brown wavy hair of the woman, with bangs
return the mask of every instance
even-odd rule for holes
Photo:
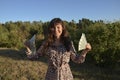
[[[54,43],[55,36],[54,36],[53,30],[57,24],[61,24],[62,29],[63,29],[62,34],[60,36],[60,41],[64,44],[66,50],[70,51],[70,48],[71,48],[70,36],[69,36],[68,31],[64,25],[64,22],[60,18],[54,18],[50,21],[50,23],[48,25],[48,32],[47,32],[45,48],[51,46]]]

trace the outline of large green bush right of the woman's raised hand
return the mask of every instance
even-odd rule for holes
[[[119,24],[120,25],[120,24]],[[88,40],[92,44],[92,56],[100,66],[118,64],[120,51],[120,27],[116,23],[96,22],[88,27]]]

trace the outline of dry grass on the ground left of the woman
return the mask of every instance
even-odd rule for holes
[[[0,80],[44,80],[47,65],[28,60],[22,52],[0,50]]]

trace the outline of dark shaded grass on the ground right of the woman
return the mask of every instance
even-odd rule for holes
[[[75,80],[120,80],[120,67],[101,68],[89,63],[73,64],[72,72]]]

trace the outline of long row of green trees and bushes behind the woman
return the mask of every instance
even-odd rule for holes
[[[120,21],[104,22],[92,21],[86,18],[75,22],[64,21],[76,50],[81,33],[85,33],[87,41],[92,46],[92,51],[87,56],[87,62],[100,66],[117,66],[120,63]],[[0,47],[24,48],[24,41],[34,34],[37,48],[45,39],[48,22],[6,22],[0,23]]]

